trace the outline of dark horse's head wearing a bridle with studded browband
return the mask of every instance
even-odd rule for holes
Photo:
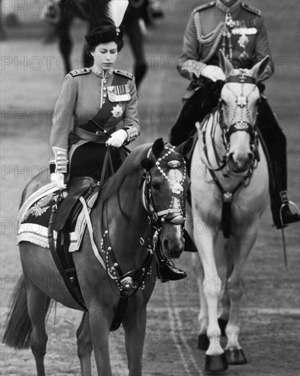
[[[191,148],[191,140],[177,148],[157,139],[150,155],[141,161],[144,167],[144,206],[152,226],[157,229],[159,245],[167,257],[178,258],[185,246],[185,197],[189,177],[184,156]]]

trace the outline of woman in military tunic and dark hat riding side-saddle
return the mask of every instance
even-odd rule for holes
[[[100,178],[107,146],[120,148],[140,133],[135,79],[113,69],[123,31],[109,23],[94,29],[85,37],[94,65],[64,79],[50,135],[51,181],[59,188],[77,176]],[[118,166],[119,150],[112,149],[111,156]]]

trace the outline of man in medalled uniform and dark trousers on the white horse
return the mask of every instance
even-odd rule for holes
[[[217,0],[199,5],[191,14],[183,39],[178,71],[191,80],[183,97],[184,105],[171,131],[170,142],[178,145],[195,132],[218,103],[226,76],[219,67],[219,50],[234,68],[252,68],[269,55],[269,64],[257,83],[261,93],[258,128],[269,153],[270,196],[273,221],[277,228],[299,221],[290,211],[286,193],[286,137],[277,123],[262,81],[273,75],[266,27],[260,10],[240,0]]]

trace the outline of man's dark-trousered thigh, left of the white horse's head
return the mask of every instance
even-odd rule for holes
[[[171,129],[170,144],[178,146],[195,133],[195,123],[202,122],[204,117],[217,106],[220,92],[219,85],[211,81],[209,85],[197,88],[193,96],[185,100],[178,119]]]

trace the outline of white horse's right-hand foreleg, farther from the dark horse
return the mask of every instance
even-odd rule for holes
[[[228,280],[228,295],[230,297],[230,315],[226,326],[228,344],[225,349],[226,358],[229,364],[245,364],[247,360],[242,347],[238,342],[240,325],[238,316],[241,308],[241,299],[244,291],[243,273],[245,263],[251,248],[254,246],[257,237],[257,229],[248,227],[247,231],[241,231],[241,239],[236,241],[236,259],[234,260],[234,269]]]

